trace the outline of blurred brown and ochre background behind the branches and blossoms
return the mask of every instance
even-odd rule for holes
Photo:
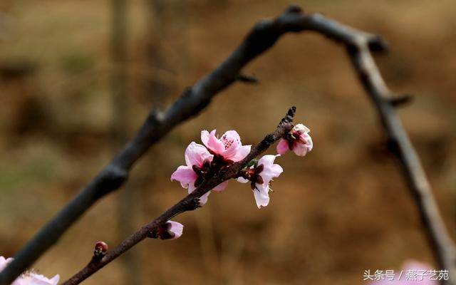
[[[305,11],[380,33],[385,81],[412,93],[400,108],[447,227],[456,238],[455,1],[296,1]],[[0,255],[11,257],[132,137],[212,71],[255,22],[289,1],[3,0],[0,2]],[[341,46],[283,36],[197,118],[154,145],[128,184],[95,204],[34,265],[67,279],[98,240],[114,247],[186,194],[171,173],[203,129],[244,144],[291,105],[314,150],[276,161],[268,207],[230,182],[176,220],[175,241],[145,240],[85,284],[365,284],[365,269],[406,259],[437,268],[400,168]],[[270,149],[269,153],[274,153]]]

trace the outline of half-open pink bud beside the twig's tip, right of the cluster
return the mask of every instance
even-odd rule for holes
[[[306,155],[314,146],[312,138],[309,135],[310,131],[303,124],[295,125],[290,133],[279,140],[279,144],[276,147],[277,152],[283,155],[286,150],[293,150],[296,155]]]

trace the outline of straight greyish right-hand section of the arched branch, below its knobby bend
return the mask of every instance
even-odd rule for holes
[[[380,71],[369,51],[368,38],[360,37],[356,43],[347,45],[348,55],[353,67],[363,83],[363,87],[371,96],[378,111],[386,135],[388,146],[400,160],[410,191],[418,206],[420,217],[430,241],[432,252],[437,258],[441,269],[450,271],[450,280],[442,280],[442,284],[456,284],[456,249],[432,195],[430,183],[427,181],[420,158],[418,157],[403,125],[393,107],[390,91],[385,85]],[[399,98],[400,99],[400,98]]]

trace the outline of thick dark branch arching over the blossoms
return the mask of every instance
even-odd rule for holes
[[[226,61],[185,90],[165,113],[150,113],[125,149],[16,254],[16,259],[0,273],[0,285],[13,281],[55,244],[66,229],[93,203],[123,185],[133,164],[151,145],[179,123],[197,115],[219,91],[238,81],[241,69],[249,61],[269,49],[284,33],[306,30],[321,33],[347,47],[356,72],[371,96],[391,145],[395,147],[395,153],[400,158],[437,261],[443,269],[449,269],[455,274],[455,246],[444,227],[420,160],[391,105],[391,102],[397,100],[380,76],[371,56],[371,51],[383,51],[387,44],[380,36],[344,26],[320,14],[303,14],[299,6],[290,6],[280,16],[260,21],[254,26]],[[452,284],[455,285],[455,282],[452,281]]]

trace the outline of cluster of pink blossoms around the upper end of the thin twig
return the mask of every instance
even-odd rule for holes
[[[239,172],[237,181],[250,182],[258,208],[269,204],[269,191],[271,191],[269,184],[273,178],[279,177],[284,171],[280,165],[274,164],[276,157],[284,154],[286,150],[292,150],[299,156],[306,155],[313,147],[309,132],[309,128],[305,125],[295,125],[279,141],[276,148],[279,155],[264,155],[259,160],[252,160],[244,170]],[[241,138],[235,130],[227,131],[221,138],[217,138],[216,130],[210,133],[203,130],[201,140],[204,145],[190,142],[185,150],[185,165],[177,167],[171,175],[171,181],[179,181],[189,193],[223,167],[229,167],[232,163],[243,160],[251,149],[251,145],[242,145]],[[227,187],[227,183],[225,181],[212,190],[222,191]],[[210,191],[199,198],[200,206],[206,204],[209,193]]]

